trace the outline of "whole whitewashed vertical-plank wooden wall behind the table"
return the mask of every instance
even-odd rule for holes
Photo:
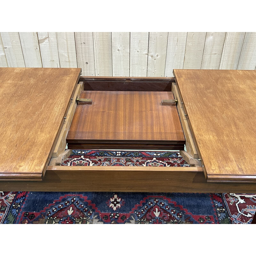
[[[173,68],[255,69],[255,32],[1,32],[0,67],[83,76],[173,76]]]

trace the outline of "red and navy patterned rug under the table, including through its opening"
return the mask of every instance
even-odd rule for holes
[[[189,166],[176,152],[73,150],[63,165]],[[0,223],[251,223],[256,194],[0,192]]]

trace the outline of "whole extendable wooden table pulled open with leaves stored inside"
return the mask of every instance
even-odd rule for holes
[[[255,70],[80,73],[0,68],[0,190],[256,192]],[[72,148],[176,149],[191,167],[60,166]]]

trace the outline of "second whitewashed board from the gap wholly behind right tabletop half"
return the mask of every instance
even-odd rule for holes
[[[207,32],[201,69],[219,69],[226,32]]]

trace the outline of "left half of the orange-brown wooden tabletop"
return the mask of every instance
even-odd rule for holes
[[[80,71],[0,68],[0,179],[42,179]]]

